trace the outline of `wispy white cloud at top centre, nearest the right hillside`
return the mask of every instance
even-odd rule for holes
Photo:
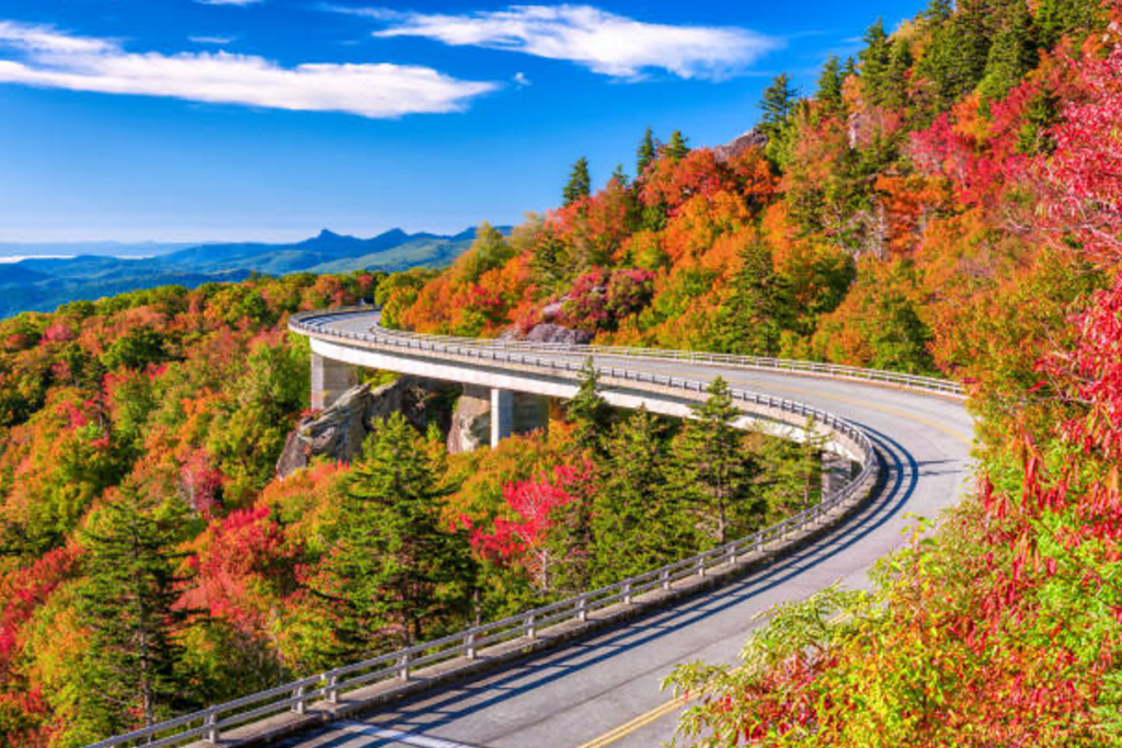
[[[743,28],[645,24],[591,6],[511,6],[462,15],[330,9],[386,22],[387,28],[375,33],[378,37],[419,36],[456,46],[509,49],[632,80],[651,70],[683,79],[723,79],[782,45]]]

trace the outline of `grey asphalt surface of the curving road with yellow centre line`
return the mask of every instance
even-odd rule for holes
[[[347,315],[325,332],[367,332]],[[563,352],[550,353],[565,357]],[[573,354],[568,354],[570,358]],[[710,380],[843,416],[876,443],[881,487],[836,530],[730,585],[496,673],[335,722],[283,745],[300,748],[637,748],[669,739],[680,707],[660,682],[692,659],[732,663],[761,613],[833,582],[867,585],[876,560],[914,517],[936,518],[967,481],[973,421],[962,401],[872,384],[688,361],[597,355],[597,366]]]

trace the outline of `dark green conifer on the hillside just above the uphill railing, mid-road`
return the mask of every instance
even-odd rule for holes
[[[747,355],[774,355],[784,327],[784,288],[772,253],[760,237],[739,252],[729,313],[721,324],[724,349]]]

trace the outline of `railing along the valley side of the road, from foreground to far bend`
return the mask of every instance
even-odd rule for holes
[[[505,345],[479,344],[473,340],[454,338],[427,338],[397,333],[385,329],[366,333],[333,330],[324,321],[338,318],[340,314],[356,310],[309,313],[296,315],[289,321],[294,332],[318,338],[341,340],[359,343],[362,347],[420,350],[445,353],[493,362],[505,362],[523,367],[548,370],[554,375],[576,378],[581,369],[580,363],[563,359],[546,359],[531,353],[535,350],[519,351]],[[365,310],[369,312],[369,310]],[[585,352],[587,347],[581,348]],[[564,349],[565,353],[573,352]],[[636,385],[669,387],[682,390],[691,399],[702,399],[707,382],[679,377],[668,377],[649,372],[635,371],[617,367],[598,367],[601,375],[635,382]],[[378,682],[407,682],[416,668],[447,663],[458,658],[467,663],[480,658],[486,647],[525,640],[527,644],[537,640],[544,628],[568,621],[587,621],[589,616],[609,607],[643,603],[643,595],[656,591],[673,589],[677,582],[696,576],[705,576],[710,570],[729,564],[736,564],[742,558],[754,553],[776,550],[788,538],[802,532],[818,529],[824,520],[843,516],[863,497],[863,491],[870,489],[877,477],[875,449],[868,436],[856,425],[835,416],[834,414],[812,408],[784,398],[733,389],[734,401],[756,405],[791,414],[793,417],[809,418],[830,431],[843,435],[856,447],[861,455],[862,470],[857,477],[838,491],[824,497],[822,500],[788,517],[783,521],[753,533],[747,537],[733,541],[716,548],[705,551],[689,558],[666,564],[644,574],[629,576],[614,584],[597,590],[583,592],[558,602],[526,610],[517,616],[463,629],[450,636],[425,641],[423,644],[386,653],[377,657],[344,665],[325,673],[285,683],[275,689],[250,694],[241,699],[209,707],[204,710],[184,714],[151,727],[127,735],[117,736],[92,744],[86,748],[119,748],[125,746],[180,746],[187,741],[202,740],[204,744],[218,745],[223,732],[232,728],[263,720],[265,718],[294,712],[307,713],[309,707],[323,703],[328,707],[339,704],[340,696],[369,686]]]

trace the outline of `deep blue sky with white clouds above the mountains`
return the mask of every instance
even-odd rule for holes
[[[0,241],[514,223],[578,156],[725,142],[925,4],[3,0]]]

